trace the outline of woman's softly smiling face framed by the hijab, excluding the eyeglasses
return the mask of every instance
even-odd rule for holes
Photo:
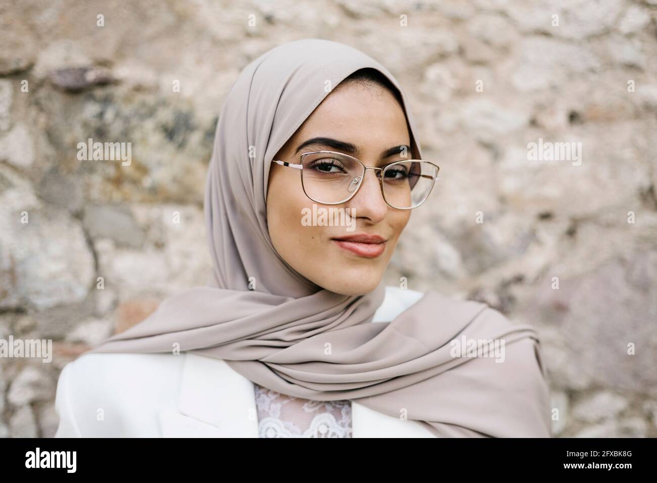
[[[334,142],[302,147],[316,137]],[[274,159],[300,164],[300,154],[304,152],[330,150],[349,154],[365,166],[383,167],[404,159],[401,146],[408,147],[406,158],[411,157],[406,118],[392,93],[378,85],[365,87],[348,82],[338,85],[317,106]],[[381,158],[390,148],[397,148],[396,154]],[[322,210],[340,208],[353,218],[336,217],[333,225],[328,225],[317,216],[313,222],[313,205],[318,215]],[[306,196],[300,170],[271,164],[267,224],[274,248],[298,273],[332,292],[362,295],[374,290],[410,216],[411,210],[397,210],[386,204],[376,170],[365,171],[353,198],[327,205]],[[340,221],[342,226],[336,226]],[[383,242],[336,241],[357,235],[376,235]]]

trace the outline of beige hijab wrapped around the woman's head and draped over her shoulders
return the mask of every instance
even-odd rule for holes
[[[321,39],[261,55],[231,87],[215,133],[205,199],[214,280],[168,298],[89,352],[179,348],[218,357],[266,388],[355,401],[420,421],[436,436],[549,436],[549,390],[532,327],[433,290],[393,321],[371,323],[383,285],[364,296],[330,292],[294,271],[271,244],[265,200],[273,156],[332,87],[366,67],[399,89],[420,158],[407,99],[373,58]],[[503,362],[455,357],[451,341],[464,339],[503,340]]]

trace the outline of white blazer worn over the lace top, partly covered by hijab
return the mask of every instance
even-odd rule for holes
[[[386,287],[373,322],[392,321],[422,292]],[[258,438],[254,384],[221,359],[85,354],[57,384],[55,438]],[[433,438],[421,423],[351,402],[353,438]]]

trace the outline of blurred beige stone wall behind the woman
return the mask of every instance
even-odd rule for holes
[[[307,37],[386,66],[441,167],[386,283],[536,327],[555,436],[657,436],[657,0],[0,0],[0,339],[54,352],[0,357],[0,437],[53,436],[63,365],[206,282],[223,99]]]

